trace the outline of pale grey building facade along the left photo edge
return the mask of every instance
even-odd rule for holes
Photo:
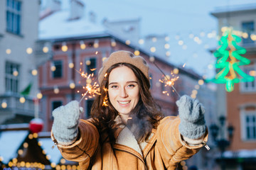
[[[39,6],[39,0],[0,1],[0,124],[28,123],[34,116],[38,85],[31,71],[36,69]]]

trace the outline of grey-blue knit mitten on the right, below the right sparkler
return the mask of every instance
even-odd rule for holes
[[[178,125],[181,135],[190,139],[202,137],[206,132],[206,121],[204,119],[206,108],[197,99],[186,95],[176,101],[176,104],[181,118],[181,123]]]

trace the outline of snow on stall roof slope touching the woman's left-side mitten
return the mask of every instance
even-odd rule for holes
[[[62,156],[57,147],[52,148],[54,145],[53,140],[51,140],[50,137],[46,137],[39,138],[38,141],[42,143],[41,147],[46,150],[46,155],[50,155],[50,162],[58,164]]]

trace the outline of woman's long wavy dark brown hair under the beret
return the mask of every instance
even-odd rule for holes
[[[159,120],[164,115],[161,112],[161,108],[156,104],[154,98],[151,96],[150,83],[144,74],[132,64],[117,63],[107,69],[107,76],[103,79],[100,85],[100,94],[96,96],[95,101],[92,104],[91,116],[95,120],[97,129],[99,132],[106,131],[108,133],[110,142],[115,142],[113,130],[116,127],[114,119],[117,117],[118,112],[110,103],[108,99],[109,75],[112,69],[117,67],[126,66],[132,69],[139,84],[139,102],[137,106],[132,109],[129,119],[127,121],[127,128],[129,128],[138,141],[147,140],[151,134],[152,128],[157,128]],[[107,105],[103,106],[103,102],[107,96]]]

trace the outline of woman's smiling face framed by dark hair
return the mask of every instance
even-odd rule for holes
[[[139,102],[139,84],[132,69],[126,66],[112,69],[109,76],[108,95],[110,103],[119,115],[127,119]]]

